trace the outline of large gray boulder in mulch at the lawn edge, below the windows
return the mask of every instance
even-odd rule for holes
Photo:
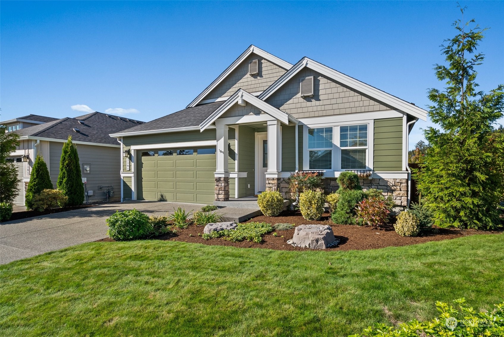
[[[338,246],[333,229],[329,225],[300,225],[287,243],[294,247],[326,249]]]

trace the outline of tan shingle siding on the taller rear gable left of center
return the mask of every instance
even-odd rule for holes
[[[248,75],[248,63],[252,60],[259,60],[259,75]],[[273,82],[286,72],[276,64],[269,62],[262,57],[249,55],[231,74],[229,74],[215,89],[213,89],[204,100],[228,97],[236,90],[242,88],[248,92],[266,90]]]

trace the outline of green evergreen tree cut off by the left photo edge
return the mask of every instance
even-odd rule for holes
[[[13,203],[19,195],[18,167],[7,162],[7,157],[19,146],[17,133],[7,134],[7,126],[0,125],[0,202]]]

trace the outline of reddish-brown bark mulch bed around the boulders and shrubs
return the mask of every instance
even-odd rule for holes
[[[292,223],[294,226],[301,224],[323,224],[330,225],[333,228],[334,235],[339,240],[338,247],[329,248],[327,251],[349,251],[349,250],[366,250],[384,247],[399,247],[414,244],[420,244],[429,241],[439,241],[452,239],[462,236],[474,234],[490,234],[501,233],[500,231],[482,231],[474,229],[447,229],[438,228],[426,234],[417,237],[403,237],[397,234],[393,225],[387,225],[383,228],[376,229],[371,227],[355,226],[355,225],[336,225],[331,222],[330,214],[325,213],[319,221],[307,221],[300,213],[283,212],[280,216],[257,216],[246,222],[267,222],[272,225],[275,223]],[[273,236],[273,232],[263,236],[263,242],[260,244],[253,242],[229,242],[222,238],[212,238],[209,240],[203,239],[198,234],[203,233],[202,226],[190,225],[186,229],[178,229],[174,235],[158,236],[156,239],[182,241],[190,243],[198,243],[210,246],[233,246],[241,248],[268,248],[286,251],[301,251],[306,248],[292,247],[287,244],[287,240],[291,239],[294,235],[294,229],[277,231],[278,236]],[[99,241],[113,241],[111,238],[105,238]]]

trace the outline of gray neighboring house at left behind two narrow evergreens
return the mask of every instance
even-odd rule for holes
[[[94,112],[75,118],[55,119],[13,131],[20,135],[20,146],[11,154],[9,160],[17,163],[19,177],[22,179],[20,193],[15,203],[24,205],[26,187],[30,181],[30,172],[36,153],[40,153],[44,157],[54,188],[56,187],[61,149],[69,135],[77,145],[82,177],[86,180],[87,196],[85,202],[107,200],[107,191],[111,192],[108,193],[108,200],[119,200],[121,180],[118,157],[120,145],[116,138],[112,138],[108,134],[142,123],[124,117]]]

